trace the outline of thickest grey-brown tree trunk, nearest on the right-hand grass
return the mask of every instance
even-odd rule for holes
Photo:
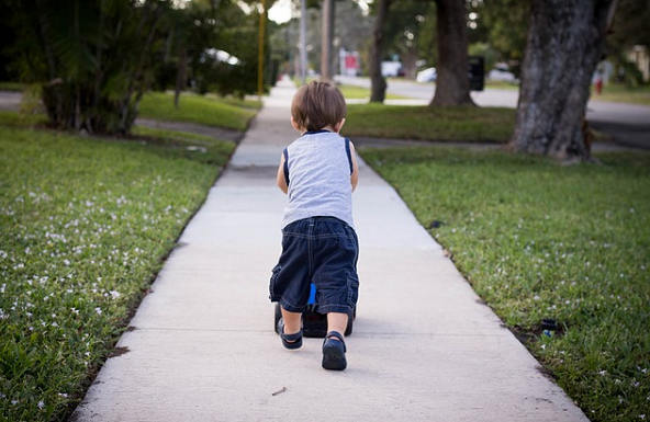
[[[590,159],[583,123],[616,0],[534,0],[511,147]]]

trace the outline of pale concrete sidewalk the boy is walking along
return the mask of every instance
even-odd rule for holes
[[[268,281],[293,92],[280,83],[265,100],[120,340],[127,353],[107,362],[72,420],[587,421],[362,162],[348,369],[321,368],[318,339],[282,347]]]

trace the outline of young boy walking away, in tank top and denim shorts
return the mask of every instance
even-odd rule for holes
[[[278,169],[278,186],[289,195],[289,204],[282,254],[269,287],[271,301],[282,309],[282,344],[299,349],[301,316],[314,283],[317,311],[327,315],[323,367],[334,370],[347,366],[343,333],[359,290],[352,221],[359,169],[355,147],[338,135],[346,111],[340,91],[326,82],[303,85],[293,96],[291,125],[301,137],[284,149]]]

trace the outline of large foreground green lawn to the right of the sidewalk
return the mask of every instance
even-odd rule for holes
[[[650,419],[650,155],[360,152],[592,421]]]

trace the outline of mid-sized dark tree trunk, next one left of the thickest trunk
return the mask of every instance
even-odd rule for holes
[[[473,105],[468,77],[468,36],[464,0],[436,0],[436,93],[430,105]]]

